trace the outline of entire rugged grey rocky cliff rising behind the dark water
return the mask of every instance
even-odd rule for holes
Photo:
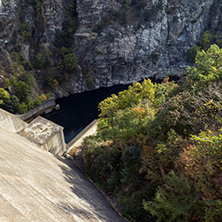
[[[1,65],[10,73],[12,51],[32,63],[43,50],[50,68],[59,62],[59,48],[72,46],[78,66],[52,87],[58,97],[181,75],[187,50],[205,30],[221,31],[220,24],[220,0],[1,0]]]

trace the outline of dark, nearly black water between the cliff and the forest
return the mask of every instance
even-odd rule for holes
[[[43,116],[64,127],[65,141],[68,143],[89,123],[98,118],[99,102],[127,88],[128,85],[100,88],[58,99],[56,103],[60,105],[60,110]]]

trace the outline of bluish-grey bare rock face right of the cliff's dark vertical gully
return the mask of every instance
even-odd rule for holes
[[[82,64],[95,73],[96,86],[180,75],[187,66],[187,50],[204,30],[214,30],[221,21],[219,1],[147,1],[144,11],[161,4],[149,21],[141,21],[131,10],[127,25],[109,24],[95,36],[95,24],[104,20],[109,10],[120,10],[120,4],[77,2],[80,26],[75,34],[79,42],[76,52]]]

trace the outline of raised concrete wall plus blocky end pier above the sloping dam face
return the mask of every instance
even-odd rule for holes
[[[53,154],[62,155],[66,151],[63,127],[43,117],[37,117],[28,124],[17,115],[0,109],[0,128],[19,133],[39,148]]]

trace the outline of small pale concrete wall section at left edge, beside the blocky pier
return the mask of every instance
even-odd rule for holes
[[[0,109],[0,128],[6,129],[10,132],[19,132],[27,125],[28,124],[26,122],[19,119],[16,115]]]

